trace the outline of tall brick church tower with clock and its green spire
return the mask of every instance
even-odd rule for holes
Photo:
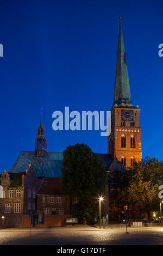
[[[121,161],[126,168],[142,158],[140,108],[137,105],[133,106],[131,101],[121,17],[108,153]]]

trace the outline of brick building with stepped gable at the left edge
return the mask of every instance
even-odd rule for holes
[[[4,170],[0,181],[0,226],[22,227],[30,212],[36,213],[36,192],[42,180],[37,178],[34,166],[29,164],[22,173]]]

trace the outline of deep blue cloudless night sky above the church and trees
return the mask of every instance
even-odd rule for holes
[[[43,108],[48,151],[86,143],[107,152],[100,131],[53,131],[52,113],[109,111],[114,94],[118,16],[131,97],[141,108],[143,157],[162,157],[162,0],[0,1],[0,173],[21,150],[34,150]]]

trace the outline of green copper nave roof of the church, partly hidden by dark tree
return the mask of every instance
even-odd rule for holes
[[[99,158],[104,162],[105,168],[111,163],[110,154],[98,154]],[[35,166],[35,172],[38,177],[60,177],[62,168],[63,154],[62,152],[46,152],[43,156],[36,156],[33,151],[21,151],[10,173],[25,172],[32,163]]]

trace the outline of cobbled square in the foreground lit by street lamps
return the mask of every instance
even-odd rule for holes
[[[89,226],[59,228],[0,229],[0,245],[163,245],[163,228],[110,226],[99,230]]]

